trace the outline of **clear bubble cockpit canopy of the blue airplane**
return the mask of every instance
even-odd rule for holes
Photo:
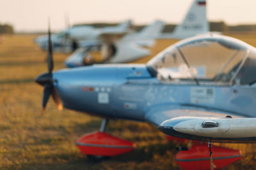
[[[169,46],[147,66],[164,80],[252,84],[256,81],[256,49],[239,39],[207,34]]]

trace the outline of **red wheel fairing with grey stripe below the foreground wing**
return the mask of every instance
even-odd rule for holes
[[[207,143],[202,141],[191,141],[173,136],[166,136],[166,139],[182,145],[188,144],[186,150],[179,147],[179,152],[175,156],[177,164],[184,170],[220,169],[241,159],[239,150],[212,146],[212,143],[209,148],[209,143],[207,146]]]

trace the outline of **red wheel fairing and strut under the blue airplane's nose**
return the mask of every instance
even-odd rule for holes
[[[80,151],[93,161],[131,152],[134,148],[134,143],[107,134],[105,132],[107,124],[108,119],[103,119],[100,131],[84,134],[76,142]]]

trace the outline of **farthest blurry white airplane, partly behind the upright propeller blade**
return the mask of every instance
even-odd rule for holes
[[[104,34],[123,35],[129,31],[131,20],[125,20],[114,27],[95,28],[90,25],[77,25],[64,31],[52,34],[52,50],[54,52],[72,52],[79,48],[80,43],[95,44],[98,43],[100,36]],[[35,39],[40,48],[47,50],[47,35],[39,36]]]

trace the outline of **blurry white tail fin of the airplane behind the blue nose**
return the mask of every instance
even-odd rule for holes
[[[140,32],[138,32],[137,36],[143,38],[157,38],[159,34],[163,31],[164,22],[161,20],[156,20],[150,25],[144,27]]]

